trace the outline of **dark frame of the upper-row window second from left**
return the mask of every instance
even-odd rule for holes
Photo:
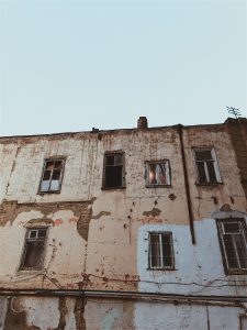
[[[108,165],[106,164],[106,157],[108,156],[117,156],[120,155],[122,158],[121,165]],[[121,186],[108,186],[106,185],[106,168],[110,166],[122,166],[122,176],[121,176]],[[121,151],[106,151],[103,155],[103,176],[102,176],[102,190],[116,190],[116,189],[125,189],[126,188],[126,182],[125,182],[125,153]]]

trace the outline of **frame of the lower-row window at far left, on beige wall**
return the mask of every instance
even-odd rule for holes
[[[30,237],[30,233],[32,231],[38,231],[38,230],[45,230],[46,231],[44,238],[38,238],[38,237],[31,238]],[[40,270],[44,268],[47,238],[48,238],[48,227],[47,226],[37,226],[37,227],[27,227],[26,228],[19,271],[40,271]],[[26,258],[27,249],[29,249],[29,242],[43,242],[43,249],[42,249],[41,255],[38,255],[40,262],[38,262],[37,266],[26,266],[24,264],[25,258]]]

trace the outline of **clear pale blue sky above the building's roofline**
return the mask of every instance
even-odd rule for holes
[[[1,1],[1,134],[247,117],[246,1]]]

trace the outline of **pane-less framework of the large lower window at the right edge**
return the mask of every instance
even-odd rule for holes
[[[227,223],[237,223],[238,226],[238,232],[226,232],[225,231],[225,224]],[[218,229],[218,238],[220,238],[220,244],[221,244],[221,249],[222,249],[222,256],[223,256],[223,264],[225,267],[225,273],[226,274],[247,274],[247,238],[246,238],[246,223],[245,223],[245,219],[242,218],[231,218],[231,219],[221,219],[217,220],[217,229]],[[232,267],[229,265],[229,261],[228,261],[228,254],[227,254],[227,250],[224,243],[224,237],[228,235],[228,238],[231,238],[231,242],[234,246],[234,254],[235,254],[235,260],[237,262],[237,267]],[[246,266],[243,267],[239,261],[239,252],[236,245],[236,237],[242,237],[243,241],[244,241],[244,246],[243,246],[243,253],[244,253],[244,257],[246,258]]]

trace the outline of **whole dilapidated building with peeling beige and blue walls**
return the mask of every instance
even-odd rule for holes
[[[1,330],[247,329],[247,119],[0,144]]]

